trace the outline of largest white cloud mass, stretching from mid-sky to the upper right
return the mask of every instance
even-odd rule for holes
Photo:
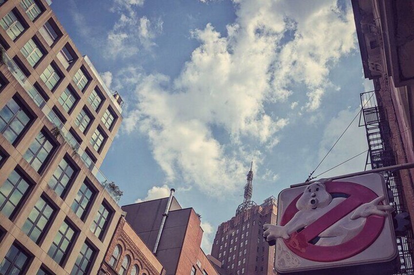
[[[179,177],[212,196],[241,187],[246,157],[260,164],[258,148],[279,143],[289,120],[265,103],[287,102],[301,84],[301,107],[317,110],[332,86],[331,67],[355,44],[352,11],[336,0],[233,2],[237,18],[227,36],[210,23],[191,32],[200,45],[179,76],[140,74],[137,103],[124,119],[127,132],[148,136],[168,181]]]

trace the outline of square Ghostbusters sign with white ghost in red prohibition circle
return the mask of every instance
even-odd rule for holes
[[[393,207],[386,194],[380,174],[283,190],[277,225],[263,226],[266,240],[276,240],[276,270],[300,272],[395,258]]]

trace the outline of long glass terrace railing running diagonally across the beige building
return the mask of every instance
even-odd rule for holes
[[[60,120],[59,116],[47,105],[46,101],[43,99],[41,94],[37,91],[37,89],[30,83],[24,73],[20,70],[17,64],[13,61],[13,59],[7,54],[5,49],[0,45],[0,57],[8,68],[10,73],[16,78],[16,80],[20,83],[21,87],[27,92],[27,94],[33,99],[35,104],[41,109],[41,111],[45,114],[48,120],[55,125],[57,129],[59,129],[59,134],[65,139],[65,141],[72,147],[73,151],[81,157],[83,163],[88,167],[88,169],[92,172],[95,178],[104,186],[105,190],[111,195],[111,197],[115,200],[115,202],[119,202],[121,196],[114,193],[114,191],[109,187],[109,183],[111,183],[99,170],[99,168],[94,164],[92,159],[87,155],[85,150],[83,150],[77,140],[73,137],[73,135],[69,132],[67,128],[64,127],[64,124]]]

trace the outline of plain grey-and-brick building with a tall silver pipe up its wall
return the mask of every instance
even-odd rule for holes
[[[200,248],[203,230],[193,208],[182,208],[173,196],[122,206],[125,219],[152,249],[166,275],[218,275]]]

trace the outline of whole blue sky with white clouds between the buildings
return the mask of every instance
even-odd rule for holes
[[[202,215],[203,248],[243,201],[306,180],[370,91],[351,3],[55,0],[52,9],[124,122],[102,171],[121,205],[167,196]],[[315,175],[366,150],[358,119]],[[366,155],[323,177],[363,170]]]

